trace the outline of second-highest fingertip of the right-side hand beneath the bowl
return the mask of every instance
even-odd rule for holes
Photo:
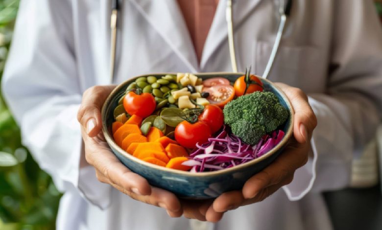
[[[216,212],[225,212],[239,207],[243,201],[244,197],[241,191],[230,191],[217,197],[213,207]]]

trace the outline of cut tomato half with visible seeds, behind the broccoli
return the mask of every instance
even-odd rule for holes
[[[207,100],[211,104],[215,104],[220,108],[224,108],[224,105],[232,101],[235,96],[234,88],[229,85],[217,85],[207,88],[204,91],[210,93]]]

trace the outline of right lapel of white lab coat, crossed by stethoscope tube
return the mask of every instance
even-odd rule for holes
[[[249,14],[254,11],[255,7],[261,1],[262,0],[233,0],[232,1],[234,36],[235,36],[235,28],[238,28],[240,24],[247,19]],[[203,54],[202,54],[202,58],[200,62],[200,69],[202,70],[206,66],[209,59],[213,56],[215,50],[224,41],[228,40],[226,5],[227,5],[227,0],[220,0],[217,6],[214,21],[211,25],[210,32],[208,33],[206,43],[204,44],[204,48],[203,48]],[[228,42],[227,42],[227,46],[228,46]],[[227,58],[229,58],[229,56]]]

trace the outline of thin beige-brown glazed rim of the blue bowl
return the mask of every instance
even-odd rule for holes
[[[133,79],[137,79],[139,77],[155,76],[155,75],[165,76],[167,74],[176,75],[177,73],[174,73],[174,72],[159,72],[159,73],[142,74],[142,75],[138,75],[138,76],[132,77],[132,78],[130,78],[130,79],[120,83],[119,85],[117,85],[117,87],[108,95],[108,97],[106,98],[104,104],[102,105],[102,109],[101,109],[102,133],[103,133],[103,135],[105,137],[106,142],[110,145],[110,147],[113,147],[115,150],[117,150],[119,152],[119,154],[121,154],[122,156],[128,158],[131,161],[134,161],[134,162],[139,163],[139,164],[143,164],[143,165],[145,165],[147,167],[154,168],[154,169],[157,169],[157,170],[160,170],[160,171],[163,171],[163,172],[174,173],[174,174],[178,174],[178,175],[182,175],[182,176],[194,176],[194,177],[214,176],[214,175],[217,175],[217,174],[224,174],[224,173],[238,171],[241,168],[250,167],[250,166],[252,166],[252,165],[254,165],[254,164],[256,164],[256,163],[258,163],[260,161],[263,161],[264,159],[272,156],[278,150],[280,150],[282,148],[282,146],[284,146],[286,144],[286,142],[289,140],[289,138],[293,134],[294,109],[293,109],[293,107],[292,107],[292,105],[291,105],[287,95],[280,89],[280,87],[278,87],[277,85],[275,85],[271,81],[269,81],[269,80],[267,80],[267,79],[265,79],[265,78],[263,78],[263,77],[261,77],[259,75],[256,75],[258,77],[261,77],[263,81],[265,81],[268,84],[272,85],[272,87],[274,87],[283,96],[283,98],[285,99],[285,101],[287,103],[288,108],[290,109],[289,110],[289,112],[290,112],[289,116],[291,117],[290,118],[290,123],[289,123],[289,126],[287,127],[287,132],[285,133],[284,138],[275,147],[273,147],[270,151],[268,151],[266,154],[264,154],[263,156],[261,156],[259,158],[254,159],[254,160],[245,162],[245,163],[240,164],[240,165],[236,165],[235,167],[224,168],[224,169],[217,170],[217,171],[212,171],[212,172],[198,172],[198,173],[191,173],[189,171],[182,171],[182,170],[167,168],[167,167],[159,166],[159,165],[152,164],[152,163],[143,161],[141,159],[138,159],[138,158],[134,157],[133,155],[127,153],[121,147],[119,147],[117,145],[117,143],[114,141],[114,138],[111,137],[111,135],[109,134],[108,127],[106,126],[106,120],[105,120],[106,119],[106,109],[108,107],[107,105],[110,104],[111,100],[116,96],[116,94],[123,87],[125,87],[125,85],[127,83],[131,83],[131,81]],[[223,75],[221,77],[224,77],[224,75],[239,75],[239,76],[244,75],[244,73],[242,73],[242,72],[204,72],[204,73],[192,73],[192,74],[194,74],[196,76],[209,76],[209,75],[219,75],[219,74],[221,74],[221,75]]]

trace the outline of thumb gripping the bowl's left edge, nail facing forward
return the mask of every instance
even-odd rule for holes
[[[107,96],[116,86],[94,86],[82,96],[77,119],[90,137],[95,137],[102,128],[101,108]]]

